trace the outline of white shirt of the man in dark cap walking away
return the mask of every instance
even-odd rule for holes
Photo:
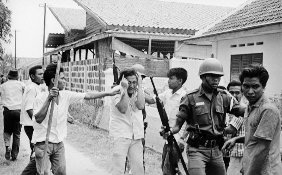
[[[1,84],[2,104],[9,110],[21,109],[22,95],[24,94],[25,84],[18,80],[8,80]]]

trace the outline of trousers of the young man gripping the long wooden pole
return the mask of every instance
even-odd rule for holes
[[[35,160],[37,172],[41,172],[43,152],[44,152],[44,142],[39,142],[34,145]],[[60,143],[48,143],[47,148],[47,159],[45,161],[44,175],[48,175],[50,172],[49,161],[51,162],[52,172],[55,175],[66,175],[66,158],[65,158],[65,148],[63,142]]]

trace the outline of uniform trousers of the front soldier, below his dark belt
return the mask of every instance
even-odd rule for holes
[[[226,175],[222,153],[218,146],[214,148],[202,145],[194,147],[188,144],[186,153],[189,174]]]

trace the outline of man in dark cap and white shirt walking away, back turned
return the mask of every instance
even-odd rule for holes
[[[18,70],[12,69],[7,75],[8,81],[1,85],[2,104],[4,107],[4,142],[6,146],[5,158],[12,161],[17,159],[20,147],[20,109],[25,84],[18,81]],[[11,150],[11,136],[13,143]]]

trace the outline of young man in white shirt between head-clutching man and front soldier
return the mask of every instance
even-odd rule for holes
[[[168,123],[169,126],[173,126],[176,122],[176,114],[178,113],[180,100],[181,98],[186,94],[186,91],[183,88],[183,84],[187,80],[187,71],[184,68],[172,68],[167,73],[168,79],[168,87],[169,89],[167,91],[164,91],[163,93],[159,94],[159,98],[164,104],[165,111],[167,113],[168,117]],[[148,96],[145,95],[146,102],[149,101],[149,104],[155,103],[155,97],[151,98],[150,100],[147,99]],[[179,144],[180,149],[184,150],[184,139],[186,139],[188,132],[185,130],[186,123],[182,126],[181,130],[174,134],[174,137],[176,141]],[[161,168],[163,170],[163,174],[171,174],[170,171],[170,164],[169,164],[169,156],[167,154],[167,142],[163,146],[163,155],[162,155],[162,164]],[[173,146],[173,155],[174,160],[176,164],[178,163],[180,157],[176,151],[176,148]],[[174,170],[173,174],[176,174],[177,172]]]

